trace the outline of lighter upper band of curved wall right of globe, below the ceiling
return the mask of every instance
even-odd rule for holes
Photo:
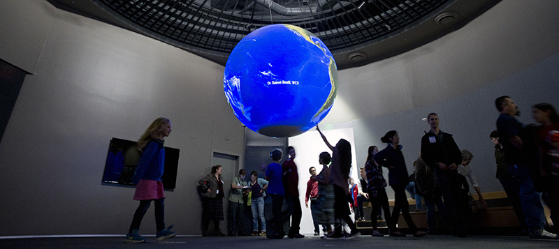
[[[338,73],[325,123],[367,119],[456,98],[559,52],[559,1],[500,1],[462,29]],[[459,12],[459,10],[457,10]]]

